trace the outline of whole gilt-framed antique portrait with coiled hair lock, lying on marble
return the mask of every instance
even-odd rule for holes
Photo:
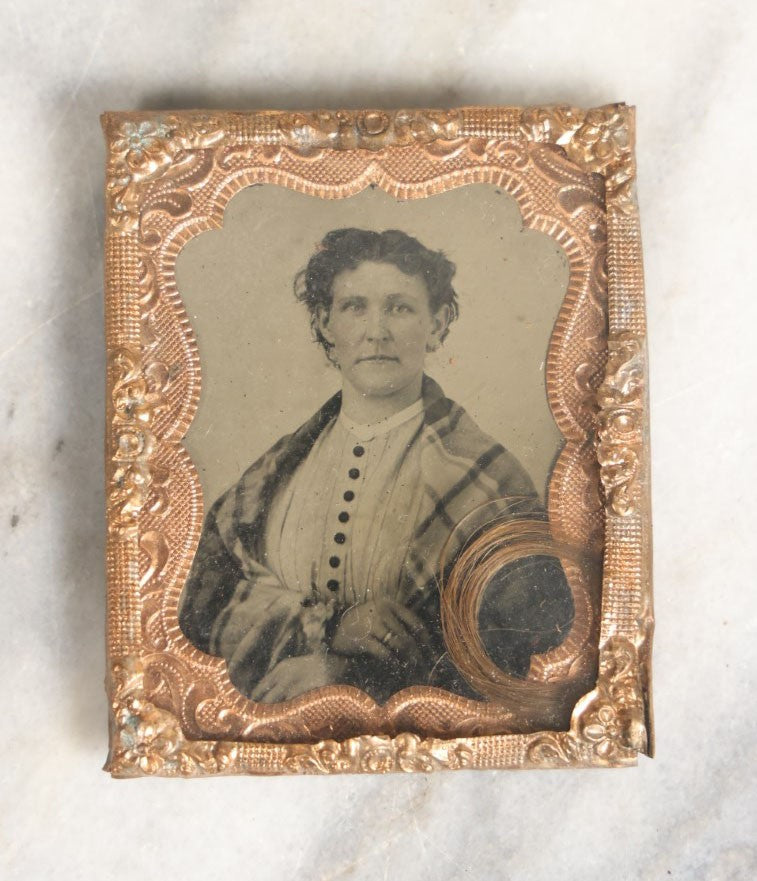
[[[632,109],[103,128],[106,768],[650,754]]]

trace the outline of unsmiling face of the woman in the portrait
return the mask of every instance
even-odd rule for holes
[[[343,378],[368,397],[420,382],[426,352],[449,322],[447,306],[431,312],[425,281],[392,263],[365,261],[335,276],[331,291],[319,326]]]

